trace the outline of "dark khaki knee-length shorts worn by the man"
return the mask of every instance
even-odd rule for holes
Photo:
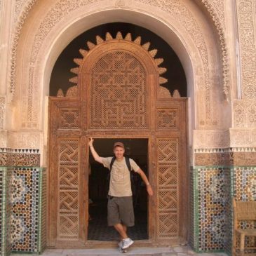
[[[107,223],[109,226],[118,223],[134,226],[133,196],[108,196]]]

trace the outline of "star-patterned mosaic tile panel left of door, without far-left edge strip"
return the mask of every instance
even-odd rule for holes
[[[41,252],[46,245],[46,170],[13,167],[11,201],[13,252]]]

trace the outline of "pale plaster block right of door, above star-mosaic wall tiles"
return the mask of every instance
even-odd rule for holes
[[[194,149],[223,149],[229,147],[229,130],[194,130]]]

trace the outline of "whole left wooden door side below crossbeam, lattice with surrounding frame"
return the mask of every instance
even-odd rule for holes
[[[50,229],[53,236],[50,244],[84,244],[86,211],[83,203],[84,181],[81,180],[80,137],[55,137],[57,151],[53,156],[54,170],[50,181]],[[81,215],[83,212],[83,216]],[[81,239],[83,238],[83,239]],[[82,240],[82,241],[81,241]]]

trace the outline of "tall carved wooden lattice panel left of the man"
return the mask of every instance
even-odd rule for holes
[[[61,140],[58,168],[58,238],[79,237],[79,140]]]

